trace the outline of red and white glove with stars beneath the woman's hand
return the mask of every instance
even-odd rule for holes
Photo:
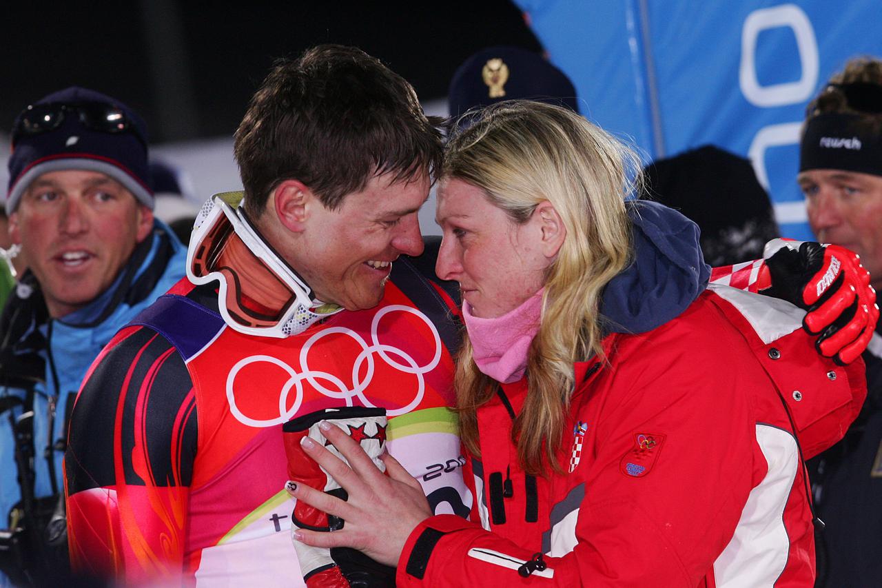
[[[309,435],[313,441],[325,446],[344,462],[346,458],[328,444],[318,424],[327,421],[349,433],[373,460],[377,467],[385,471],[385,464],[379,459],[385,451],[385,409],[348,406],[338,409],[325,409],[310,412],[303,417],[288,421],[282,426],[285,454],[288,456],[288,478],[297,484],[305,484],[343,500],[346,491],[329,476],[310,456],[303,452],[300,441]],[[291,513],[291,532],[297,529],[312,531],[336,531],[343,528],[343,521],[336,516],[328,516],[324,511],[311,507],[306,502],[296,501]],[[394,585],[395,570],[371,560],[367,555],[348,548],[326,549],[310,547],[293,539],[297,561],[303,573],[303,580],[309,588],[349,588],[350,586]]]

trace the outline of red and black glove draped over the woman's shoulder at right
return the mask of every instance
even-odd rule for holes
[[[763,256],[759,279],[771,284],[759,292],[808,311],[803,328],[818,335],[818,353],[840,365],[854,361],[879,316],[870,273],[857,254],[840,245],[773,239]]]

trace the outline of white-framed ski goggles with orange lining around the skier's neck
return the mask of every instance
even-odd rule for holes
[[[282,338],[343,310],[314,298],[243,214],[242,200],[243,192],[221,192],[207,200],[187,251],[192,283],[220,283],[218,306],[224,321],[247,335]],[[235,264],[229,264],[233,253]],[[273,303],[267,305],[266,298]]]

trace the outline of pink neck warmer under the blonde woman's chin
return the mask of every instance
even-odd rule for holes
[[[542,290],[496,319],[476,317],[471,305],[463,300],[462,316],[472,342],[475,364],[482,373],[503,384],[524,377],[527,351],[539,332],[542,318]]]

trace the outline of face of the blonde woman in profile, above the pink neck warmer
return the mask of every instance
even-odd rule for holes
[[[502,316],[542,288],[553,256],[543,243],[540,212],[537,207],[517,224],[474,185],[447,178],[438,186],[436,220],[444,238],[435,271],[460,283],[475,316]]]

